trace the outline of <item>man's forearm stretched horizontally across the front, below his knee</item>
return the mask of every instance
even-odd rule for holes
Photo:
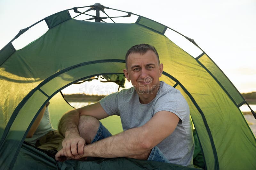
[[[154,147],[144,140],[148,132],[143,128],[133,128],[115,136],[102,139],[84,146],[83,157],[131,157],[134,155],[149,155]]]

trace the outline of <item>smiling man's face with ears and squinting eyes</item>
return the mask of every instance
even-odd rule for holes
[[[137,93],[152,94],[159,87],[163,64],[158,63],[156,54],[148,50],[145,54],[130,53],[124,75],[132,81]]]

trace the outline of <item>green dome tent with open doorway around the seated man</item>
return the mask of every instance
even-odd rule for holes
[[[96,21],[104,19],[99,11],[108,8],[99,4],[88,7],[96,11],[92,16]],[[79,8],[69,10],[83,14]],[[12,40],[0,51],[1,169],[185,168],[126,158],[60,163],[23,144],[49,100],[55,128],[61,115],[72,109],[60,90],[97,75],[122,75],[127,49],[140,43],[156,47],[164,63],[161,80],[179,89],[188,101],[205,168],[256,169],[256,139],[239,110],[246,101],[206,53],[191,56],[164,35],[171,28],[136,14],[133,24],[103,23],[76,20],[69,10],[41,20],[49,30],[24,48],[16,51]],[[127,12],[125,17],[131,15]]]

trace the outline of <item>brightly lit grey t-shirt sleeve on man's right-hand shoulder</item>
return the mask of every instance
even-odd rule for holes
[[[188,103],[178,91],[168,92],[157,99],[154,107],[154,115],[163,110],[174,113],[182,122],[185,117],[189,116]]]

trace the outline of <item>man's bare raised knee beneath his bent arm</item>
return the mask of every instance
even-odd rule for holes
[[[79,117],[78,130],[86,144],[91,143],[100,126],[100,121],[92,116],[82,115]]]

